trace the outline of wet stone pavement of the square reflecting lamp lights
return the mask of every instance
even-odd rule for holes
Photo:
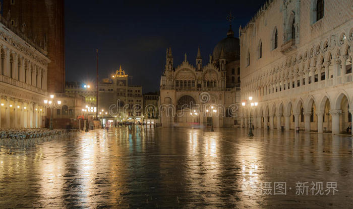
[[[351,137],[254,135],[123,127],[2,147],[0,208],[353,208]]]

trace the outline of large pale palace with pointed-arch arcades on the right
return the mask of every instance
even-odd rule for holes
[[[350,132],[353,10],[349,0],[273,0],[239,29],[241,123]]]

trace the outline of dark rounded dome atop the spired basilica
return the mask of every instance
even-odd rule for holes
[[[227,37],[214,47],[213,60],[218,60],[223,49],[224,57],[228,62],[240,59],[239,38],[234,38],[234,32],[229,28]]]

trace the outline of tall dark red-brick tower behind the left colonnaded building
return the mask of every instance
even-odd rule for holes
[[[1,14],[48,52],[48,92],[64,92],[64,1],[3,0]]]

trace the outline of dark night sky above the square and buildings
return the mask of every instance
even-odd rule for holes
[[[165,51],[172,48],[174,67],[184,60],[195,65],[200,46],[207,64],[214,46],[232,29],[246,25],[264,0],[248,1],[65,1],[66,80],[95,82],[96,48],[99,78],[109,77],[119,65],[143,92],[159,89]]]

